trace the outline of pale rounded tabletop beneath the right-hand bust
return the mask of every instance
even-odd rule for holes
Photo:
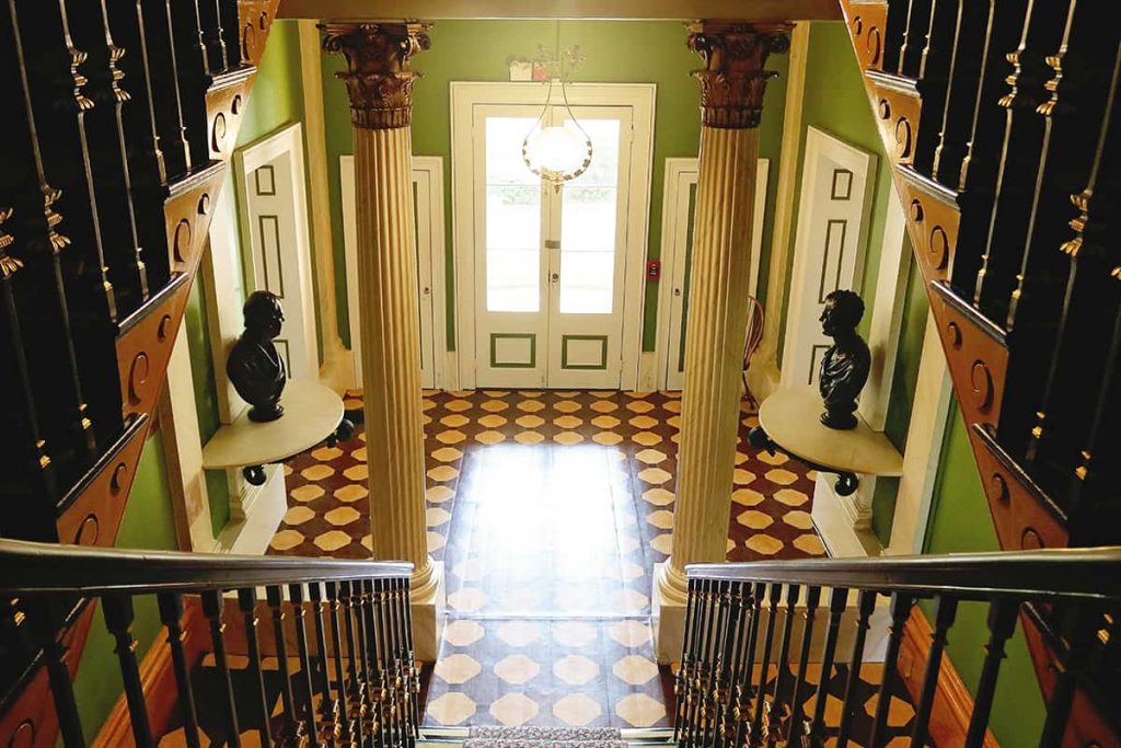
[[[859,413],[855,428],[840,431],[819,421],[823,410],[816,387],[780,389],[759,406],[759,425],[784,451],[830,471],[902,474],[902,455]]]

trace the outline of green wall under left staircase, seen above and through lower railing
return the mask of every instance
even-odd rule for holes
[[[172,493],[168,489],[167,464],[164,461],[163,436],[157,431],[148,437],[137,467],[136,481],[124,508],[121,528],[117,535],[119,548],[148,548],[175,551],[175,518],[172,515]],[[159,612],[151,597],[136,600],[136,622],[132,634],[139,643],[137,656],[151,646],[159,632]],[[82,652],[74,695],[86,742],[92,742],[121,694],[121,671],[113,654],[113,639],[105,630],[105,619],[100,608],[93,613],[90,638]]]

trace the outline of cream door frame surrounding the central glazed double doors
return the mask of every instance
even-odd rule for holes
[[[479,83],[452,81],[452,251],[455,260],[455,351],[462,389],[475,387],[475,215],[473,110],[479,104],[541,107],[547,82]],[[650,232],[650,175],[654,168],[654,83],[566,84],[573,107],[630,107],[632,147],[627,259],[623,280],[621,389],[638,385],[642,350],[646,257]],[[641,150],[645,149],[645,158]]]

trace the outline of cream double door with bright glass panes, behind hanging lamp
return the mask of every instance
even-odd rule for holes
[[[480,387],[620,385],[632,112],[573,107],[587,169],[559,186],[530,172],[522,141],[539,107],[473,108],[475,379]],[[573,127],[560,107],[549,123]]]

